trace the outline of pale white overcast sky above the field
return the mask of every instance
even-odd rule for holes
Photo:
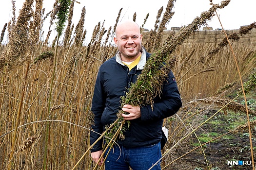
[[[2,0],[3,1],[3,0]],[[16,16],[19,15],[25,0],[16,0]],[[88,31],[87,38],[91,38],[91,32],[98,22],[105,20],[106,30],[114,26],[120,8],[123,8],[120,19],[132,19],[134,13],[137,13],[137,23],[143,24],[144,18],[149,13],[148,20],[144,28],[154,29],[156,16],[161,6],[165,7],[168,0],[77,0],[75,3],[73,23],[78,23],[83,6],[86,9],[85,28]],[[44,0],[43,7],[45,14],[52,10],[55,0]],[[221,0],[213,0],[214,3],[220,3]],[[167,29],[171,27],[181,27],[193,21],[201,12],[210,8],[209,0],[177,0],[173,11],[175,15],[167,25]],[[230,4],[224,9],[218,10],[221,23],[226,30],[239,29],[242,25],[249,25],[256,21],[256,0],[231,0]],[[11,0],[4,0],[0,5],[0,30],[4,24],[8,22],[12,16]],[[46,25],[46,24],[45,24]],[[221,28],[217,17],[214,17],[208,25],[213,29]]]

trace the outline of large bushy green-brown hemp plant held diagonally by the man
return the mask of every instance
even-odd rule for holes
[[[172,0],[172,3],[174,0]],[[175,63],[175,57],[170,54],[176,49],[178,45],[181,45],[185,39],[191,36],[195,31],[198,31],[199,27],[207,25],[207,21],[215,16],[215,11],[219,8],[224,8],[229,4],[230,0],[224,0],[220,5],[213,4],[212,7],[201,14],[200,17],[196,17],[192,23],[187,26],[182,27],[180,33],[177,35],[169,34],[168,38],[165,40],[163,46],[154,52],[149,60],[146,62],[144,69],[138,76],[136,83],[132,84],[129,88],[129,92],[126,96],[121,97],[121,106],[124,104],[131,104],[133,106],[144,106],[151,104],[154,107],[154,97],[161,94],[161,87],[164,80],[171,68],[173,68]],[[171,11],[169,9],[169,11]],[[169,18],[170,19],[170,18]],[[167,22],[166,22],[167,23]],[[113,138],[119,134],[120,139],[124,139],[123,131],[129,128],[129,121],[125,121],[121,114],[125,114],[121,109],[118,111],[118,121],[115,121],[115,125],[111,125],[110,128],[106,128],[106,136],[108,138]],[[123,125],[127,123],[126,127]]]

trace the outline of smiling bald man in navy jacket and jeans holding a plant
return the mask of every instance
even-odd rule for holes
[[[142,34],[137,23],[125,21],[118,24],[116,37],[118,46],[115,57],[104,62],[99,70],[95,84],[91,111],[94,114],[90,133],[92,145],[109,125],[117,119],[120,109],[120,96],[124,96],[131,83],[136,82],[150,54],[142,47]],[[118,139],[118,146],[106,157],[105,170],[148,170],[161,158],[160,141],[161,127],[164,118],[177,113],[181,107],[180,94],[172,72],[164,82],[162,94],[154,99],[154,109],[151,105],[143,107],[125,104],[122,110],[125,120],[131,124],[124,132],[125,138]],[[102,140],[91,150],[91,156],[98,162],[102,155]],[[102,165],[103,158],[99,165]],[[160,164],[153,170],[160,170]]]

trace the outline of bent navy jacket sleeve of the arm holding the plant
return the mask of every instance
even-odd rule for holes
[[[168,78],[164,82],[160,100],[154,102],[153,110],[151,105],[140,108],[141,121],[157,121],[165,119],[177,113],[182,106],[177,82],[172,71],[169,72]]]

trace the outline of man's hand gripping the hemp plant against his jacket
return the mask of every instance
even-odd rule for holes
[[[122,114],[123,119],[133,120],[141,117],[140,107],[132,106],[130,104],[125,104],[122,108],[123,111],[130,113],[129,115]]]

